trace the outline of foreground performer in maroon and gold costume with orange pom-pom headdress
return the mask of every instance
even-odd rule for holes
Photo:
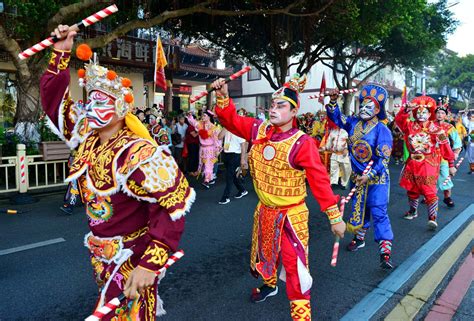
[[[69,95],[69,60],[75,31],[59,25],[41,78],[41,102],[52,129],[71,148],[78,146],[68,181],[78,181],[89,219],[84,239],[99,286],[97,308],[124,293],[128,298],[102,320],[147,320],[163,314],[155,272],[177,250],[184,215],[195,193],[173,157],[158,146],[134,116],[131,81],[88,61],[78,71],[88,101]]]

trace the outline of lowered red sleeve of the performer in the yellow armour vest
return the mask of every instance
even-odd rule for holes
[[[308,157],[308,155],[311,155],[311,157]],[[321,163],[314,139],[308,136],[308,139],[303,141],[302,146],[296,151],[293,164],[296,168],[305,170],[311,192],[319,203],[321,211],[328,216],[331,224],[341,222],[342,215],[337,207],[339,196],[334,195],[331,189],[326,167]]]

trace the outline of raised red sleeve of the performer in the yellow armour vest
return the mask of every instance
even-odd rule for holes
[[[232,99],[227,98],[219,101],[215,108],[217,117],[222,126],[232,134],[237,135],[246,141],[252,139],[252,131],[255,123],[262,122],[252,117],[244,117],[237,114]]]

